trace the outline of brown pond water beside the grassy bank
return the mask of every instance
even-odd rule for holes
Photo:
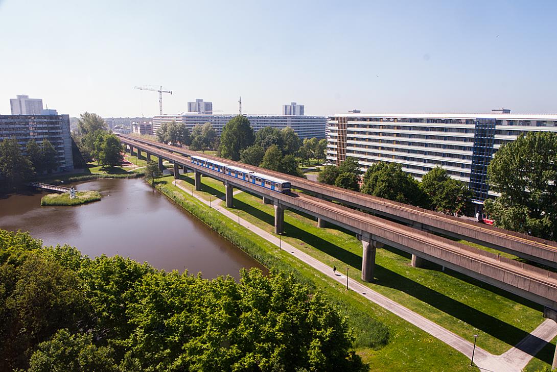
[[[207,278],[238,278],[242,267],[265,270],[142,180],[86,181],[77,190],[100,191],[102,200],[41,207],[46,192],[11,195],[0,199],[0,229],[29,231],[45,245],[69,244],[89,257],[118,254]]]

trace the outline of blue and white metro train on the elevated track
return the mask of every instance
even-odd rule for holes
[[[201,156],[192,156],[190,161],[194,164],[201,165],[204,168],[238,178],[238,180],[265,187],[265,189],[282,192],[283,194],[290,191],[290,182],[281,180],[280,178],[263,175],[245,168],[228,165],[226,163],[207,159]]]

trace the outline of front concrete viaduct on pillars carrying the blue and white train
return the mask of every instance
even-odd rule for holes
[[[375,251],[389,245],[413,255],[415,265],[427,260],[474,277],[506,291],[518,294],[545,307],[549,318],[557,318],[557,274],[515,260],[506,259],[475,247],[445,239],[431,232],[414,229],[397,222],[382,219],[349,207],[303,194],[281,194],[263,187],[238,180],[217,171],[193,164],[182,154],[171,153],[144,143],[123,139],[130,151],[136,148],[156,155],[162,168],[162,159],[174,165],[174,176],[179,168],[193,169],[196,190],[201,187],[201,176],[206,175],[222,181],[226,186],[226,205],[233,205],[233,188],[249,191],[263,197],[267,204],[275,206],[275,233],[282,232],[284,210],[291,208],[317,217],[318,224],[325,222],[354,232],[363,246],[361,278],[373,281]],[[263,171],[262,171],[263,172]]]

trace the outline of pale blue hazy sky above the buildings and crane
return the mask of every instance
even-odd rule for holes
[[[9,98],[104,117],[557,112],[557,1],[0,0]]]

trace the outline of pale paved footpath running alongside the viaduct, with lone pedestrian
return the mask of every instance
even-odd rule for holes
[[[180,185],[180,183],[182,182],[183,181],[174,181],[174,185],[187,192],[188,194],[191,194],[190,189],[187,189],[186,187]],[[234,195],[238,194],[238,192],[241,191],[238,190],[234,192]],[[194,196],[198,200],[202,201],[204,204],[209,205],[209,202],[204,200],[201,196],[197,195],[197,193],[194,193]],[[212,206],[214,207],[214,210],[221,212],[224,216],[227,216],[233,221],[238,221],[238,215],[233,214],[227,209],[224,209],[224,207],[220,205],[221,201],[222,199],[218,200],[217,202],[213,201]],[[280,246],[282,250],[289,252],[292,256],[305,262],[307,265],[313,267],[315,270],[322,272],[326,276],[330,277],[330,279],[336,280],[341,284],[346,285],[346,276],[341,274],[338,270],[336,271],[336,274],[333,273],[333,270],[328,265],[325,265],[323,262],[314,259],[314,257],[305,254],[294,246],[281,241],[275,235],[270,234],[260,227],[251,224],[251,222],[240,219],[240,225],[247,227],[247,229],[250,229],[252,232],[261,236],[263,239],[271,242],[277,247]],[[374,302],[375,304],[384,307],[391,313],[400,316],[400,318],[417,326],[419,329],[426,331],[427,333],[443,341],[447,345],[452,346],[452,348],[460,351],[462,354],[468,356],[469,358],[472,355],[473,344],[470,343],[470,341],[463,339],[461,336],[452,333],[451,331],[443,328],[433,321],[424,318],[422,315],[419,315],[414,311],[409,310],[406,307],[398,304],[398,302],[390,300],[388,297],[385,297],[382,294],[373,291],[369,287],[360,284],[357,281],[351,280],[350,278],[349,288],[360,294],[361,296],[364,296],[366,299]],[[526,336],[514,348],[511,348],[504,354],[493,355],[476,346],[476,351],[474,353],[474,364],[476,364],[481,371],[485,372],[520,372],[532,359],[532,355],[538,353],[538,351],[540,351],[546,345],[546,343],[554,339],[555,336],[557,336],[557,324],[553,320],[546,319],[543,323],[541,323],[540,326],[538,326],[538,328],[532,331],[530,335]]]

